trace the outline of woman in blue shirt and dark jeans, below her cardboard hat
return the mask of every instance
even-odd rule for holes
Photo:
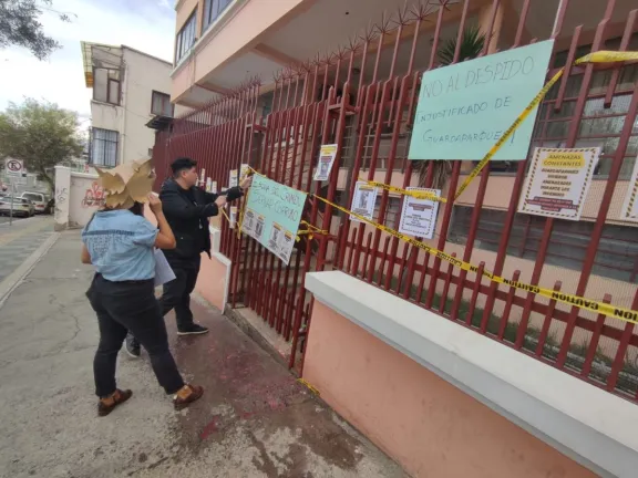
[[[114,207],[97,211],[82,231],[82,262],[92,263],[96,271],[86,294],[100,326],[100,345],[93,361],[99,416],[109,415],[131,398],[131,391],[115,385],[117,353],[127,331],[148,352],[153,372],[160,385],[173,395],[175,409],[204,394],[200,386],[184,383],[168,349],[166,325],[155,299],[154,248],[175,248],[175,236],[160,199],[151,194],[148,205],[158,230],[143,216]]]

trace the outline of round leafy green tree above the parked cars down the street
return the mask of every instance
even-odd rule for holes
[[[24,160],[53,188],[50,169],[65,159],[79,157],[84,148],[78,132],[78,114],[54,103],[28,98],[21,105],[9,103],[0,113],[0,158]]]

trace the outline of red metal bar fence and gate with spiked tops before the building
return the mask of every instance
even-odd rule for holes
[[[335,54],[282,71],[274,90],[250,81],[176,119],[172,132],[157,136],[158,175],[165,175],[168,160],[191,156],[206,176],[226,185],[229,169],[248,163],[271,179],[348,208],[360,177],[455,191],[466,163],[451,162],[446,169],[441,162],[407,160],[421,75],[439,66],[444,31],[452,30],[456,38],[453,62],[463,60],[465,27],[476,19],[481,2],[441,3],[421,3],[383,18]],[[442,205],[431,243],[498,276],[637,310],[636,229],[614,221],[610,211],[622,201],[638,153],[638,66],[572,66],[589,51],[638,50],[637,10],[600,1],[604,12],[597,24],[588,25],[573,19],[584,14],[578,2],[550,2],[556,3],[549,15],[554,28],[534,37],[537,25],[532,19],[547,15],[547,6],[532,3],[521,2],[515,24],[507,12],[500,20],[498,0],[491,3],[481,21],[483,31],[491,32],[481,55],[556,39],[548,75],[564,65],[566,74],[539,107],[532,146],[601,145],[599,201],[579,222],[521,216],[516,209],[527,162],[494,163],[475,179],[471,204]],[[618,18],[624,22],[619,33]],[[504,33],[505,22],[510,35]],[[564,31],[566,23],[575,22],[573,30]],[[266,117],[264,107],[271,110]],[[339,145],[340,167],[332,169],[329,181],[312,181],[320,145],[332,143]],[[512,194],[502,207],[484,204],[503,184]],[[375,220],[397,228],[402,201],[383,191]],[[289,266],[253,239],[239,238],[226,221],[223,226],[222,252],[233,261],[231,305],[251,308],[291,341],[291,366],[302,366],[297,351],[310,320],[312,299],[303,289],[305,274],[338,269],[596,386],[638,399],[638,335],[631,323],[500,287],[379,229],[350,222],[316,199],[309,200],[305,219],[330,233],[303,236]]]

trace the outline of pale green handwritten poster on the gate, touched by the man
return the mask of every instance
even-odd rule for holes
[[[255,175],[241,231],[288,263],[305,204],[306,193]]]

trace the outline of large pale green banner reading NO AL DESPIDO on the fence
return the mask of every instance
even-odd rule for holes
[[[425,72],[409,159],[480,160],[544,85],[554,40]],[[494,156],[527,157],[536,108]]]

